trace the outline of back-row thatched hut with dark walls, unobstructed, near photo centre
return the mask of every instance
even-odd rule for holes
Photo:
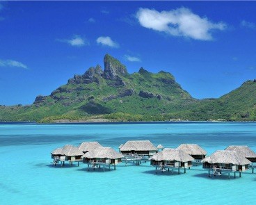
[[[157,147],[155,147],[150,140],[134,140],[127,141],[125,145],[122,145],[120,152],[123,155],[136,154],[143,157],[152,156],[157,153]]]

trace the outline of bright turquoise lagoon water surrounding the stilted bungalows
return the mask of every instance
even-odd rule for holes
[[[51,165],[65,144],[98,141],[118,150],[127,140],[177,147],[197,143],[209,154],[227,145],[256,151],[254,122],[157,124],[0,124],[0,204],[245,204],[255,202],[256,174],[208,178],[202,167],[155,174],[149,163],[86,171]]]

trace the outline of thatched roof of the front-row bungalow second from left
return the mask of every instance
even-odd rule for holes
[[[81,158],[109,158],[116,159],[122,158],[123,155],[119,154],[115,149],[111,147],[97,147],[96,149],[90,150],[83,154]]]

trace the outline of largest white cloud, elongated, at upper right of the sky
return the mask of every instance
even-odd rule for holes
[[[212,30],[222,31],[226,27],[223,22],[212,23],[207,17],[200,17],[188,8],[163,10],[161,12],[154,9],[140,8],[136,17],[141,26],[145,28],[195,40],[212,40]]]

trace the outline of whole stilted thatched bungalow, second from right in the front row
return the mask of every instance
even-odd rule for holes
[[[189,154],[186,154],[185,151],[181,149],[170,149],[166,148],[163,151],[154,154],[150,158],[150,164],[156,167],[156,172],[159,170],[165,172],[166,170],[178,170],[184,168],[184,173],[186,173],[186,168],[192,166],[192,161],[194,158]]]

